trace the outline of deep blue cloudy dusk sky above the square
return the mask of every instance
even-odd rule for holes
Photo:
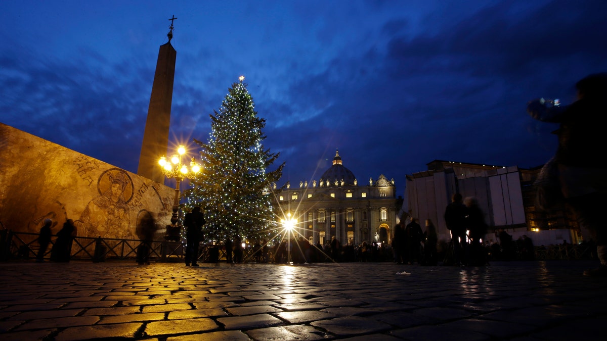
[[[359,180],[432,160],[554,154],[526,103],[607,71],[607,1],[2,1],[0,122],[137,172],[158,48],[177,50],[169,144],[206,141],[246,77],[279,185],[336,149]],[[160,156],[160,155],[159,155]]]

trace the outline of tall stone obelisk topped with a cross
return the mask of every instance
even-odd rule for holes
[[[158,159],[166,155],[169,144],[169,125],[171,123],[171,101],[173,98],[173,81],[175,78],[175,58],[177,51],[171,46],[173,38],[173,21],[169,19],[169,41],[160,46],[152,95],[148,107],[148,119],[141,143],[141,154],[137,174],[159,183],[164,183]]]

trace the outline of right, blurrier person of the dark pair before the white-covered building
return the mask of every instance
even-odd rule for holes
[[[485,217],[483,211],[478,207],[478,201],[475,197],[467,197],[464,204],[467,208],[466,226],[470,234],[468,264],[483,266],[487,263],[487,253],[482,244],[482,240],[487,233]]]

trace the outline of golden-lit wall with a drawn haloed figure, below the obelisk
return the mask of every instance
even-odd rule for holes
[[[4,228],[38,232],[67,219],[79,237],[134,238],[145,211],[157,237],[171,223],[175,189],[0,123],[0,221]]]

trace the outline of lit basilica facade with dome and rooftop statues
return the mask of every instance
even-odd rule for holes
[[[390,243],[401,208],[394,180],[379,175],[359,183],[339,152],[318,181],[275,190],[278,215],[293,217],[294,233],[325,245],[332,237],[342,245]]]

